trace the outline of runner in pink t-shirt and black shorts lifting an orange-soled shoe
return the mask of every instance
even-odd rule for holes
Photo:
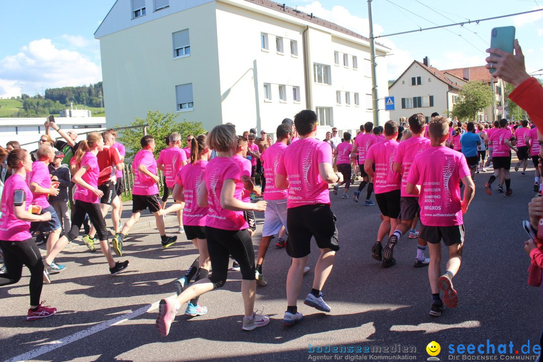
[[[458,274],[462,263],[464,225],[462,215],[468,210],[475,185],[470,169],[462,153],[445,146],[449,137],[449,123],[445,117],[430,122],[431,147],[415,156],[407,176],[406,192],[419,195],[419,238],[428,243],[430,265],[428,280],[432,289],[431,316],[440,316],[445,305],[454,308],[458,304],[452,278]],[[464,183],[464,197],[460,200],[459,182]],[[449,249],[445,274],[440,275],[441,239]],[[443,290],[443,301],[439,290]]]

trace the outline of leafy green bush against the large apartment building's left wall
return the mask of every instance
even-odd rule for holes
[[[205,134],[206,130],[201,122],[178,122],[176,118],[179,115],[175,113],[161,113],[159,111],[148,111],[146,118],[137,118],[130,123],[131,126],[142,126],[148,124],[147,134],[155,138],[155,158],[159,157],[160,151],[166,148],[166,137],[172,132],[178,132],[181,135],[183,145],[186,146],[186,138],[188,135]],[[118,125],[116,125],[118,127]],[[143,137],[143,127],[129,128],[120,130],[117,134],[119,142],[124,144],[127,149],[127,158],[133,158],[134,155],[141,149],[140,139]]]

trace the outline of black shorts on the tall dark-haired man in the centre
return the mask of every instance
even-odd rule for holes
[[[336,215],[330,205],[304,205],[287,209],[287,254],[303,258],[311,252],[311,237],[319,249],[339,250]]]

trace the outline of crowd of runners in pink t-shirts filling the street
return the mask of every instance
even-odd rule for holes
[[[489,67],[496,64],[489,62]],[[522,100],[522,85],[519,89],[512,96]],[[225,284],[231,264],[242,275],[242,329],[266,326],[269,317],[255,312],[254,304],[257,284],[267,285],[263,264],[274,238],[276,247],[284,247],[292,258],[283,315],[283,324],[291,326],[302,321],[298,297],[304,275],[310,270],[307,260],[312,238],[320,255],[304,304],[323,312],[331,310],[322,293],[340,248],[331,194],[338,195],[343,187],[341,199],[348,199],[350,185],[359,174],[361,181],[353,200],[358,202],[367,188],[364,206],[377,204],[381,212],[376,242],[367,246],[368,256],[381,262],[383,268],[390,268],[396,263],[394,249],[402,236],[418,239],[413,265],[428,266],[430,315],[440,316],[445,307],[458,304],[453,279],[462,264],[463,217],[475,194],[475,173],[485,173],[492,167],[493,173],[484,183],[485,192],[492,195],[497,180],[496,190],[512,195],[509,170],[514,151],[519,159],[515,170],[522,168],[522,175],[526,175],[528,158],[532,159],[533,190],[538,193],[539,142],[543,140],[535,124],[526,119],[514,124],[507,119],[474,124],[437,113],[429,118],[415,113],[399,122],[389,120],[382,127],[367,122],[356,135],[338,135],[334,128],[320,140],[315,138],[317,115],[302,110],[294,120],[285,118],[277,126],[275,143],[265,131],[256,139],[256,130],[242,132],[235,125],[222,124],[206,135],[188,135],[185,148],[181,136],[173,132],[158,160],[153,155],[155,139],[143,136],[141,150],[130,166],[134,173],[132,213],[124,224],[120,196],[125,150],[116,142],[116,131],[91,132],[76,144],[77,134],[64,134],[58,125],[46,122],[47,134],[35,152],[29,153],[16,142],[0,149],[0,158],[7,166],[2,173],[0,246],[5,265],[0,285],[17,283],[26,265],[31,273],[27,320],[53,315],[55,308],[40,303],[43,283],[50,283],[51,274],[66,268],[56,264],[55,257],[79,237],[85,220],[90,220],[91,227],[85,230],[83,243],[94,251],[98,242],[109,273],[116,275],[128,268],[128,261],[116,261],[113,253],[123,255],[130,228],[141,212],[149,209],[155,216],[161,247],[167,248],[177,240],[177,236],[166,235],[164,225],[166,214],[177,213],[178,232],[184,232],[199,252],[198,258],[187,265],[186,274],[173,282],[177,295],[160,301],[156,327],[161,335],[168,335],[185,303],[187,315],[207,313],[199,297]],[[49,129],[59,132],[66,142],[53,142]],[[70,165],[71,177],[62,170],[62,163]],[[165,177],[162,199],[157,170]],[[175,203],[165,208],[169,194]],[[115,231],[111,247],[105,223],[110,207]],[[543,215],[543,208],[533,209],[531,216],[538,212]],[[252,244],[255,211],[264,213],[256,256]],[[440,268],[441,240],[448,251],[444,271]],[[36,245],[40,242],[47,243],[43,259]],[[527,248],[531,256],[534,248],[538,250],[535,246]]]

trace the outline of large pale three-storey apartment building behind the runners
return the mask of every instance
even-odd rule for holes
[[[159,110],[207,130],[231,122],[240,134],[275,134],[283,118],[312,109],[324,138],[372,120],[369,40],[284,4],[117,0],[94,37],[109,125]],[[377,59],[384,97],[386,57]]]

